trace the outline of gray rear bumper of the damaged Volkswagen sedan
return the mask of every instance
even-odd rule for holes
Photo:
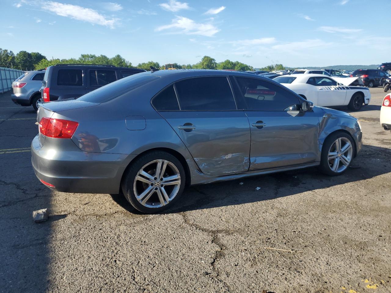
[[[31,163],[39,180],[56,191],[70,193],[118,193],[122,174],[136,155],[83,152],[71,139],[41,147],[39,134],[31,143]],[[46,138],[50,139],[50,138]]]

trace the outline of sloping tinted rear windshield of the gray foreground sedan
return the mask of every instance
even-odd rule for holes
[[[95,89],[90,93],[87,93],[84,96],[78,98],[78,100],[91,102],[91,103],[104,103],[111,101],[118,96],[123,95],[139,86],[143,86],[152,80],[156,80],[159,77],[156,75],[148,75],[148,74],[135,74],[123,79],[117,80],[106,86],[102,86],[102,88]]]

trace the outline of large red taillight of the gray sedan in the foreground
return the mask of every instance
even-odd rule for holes
[[[79,123],[75,121],[42,117],[39,133],[50,138],[72,138]]]

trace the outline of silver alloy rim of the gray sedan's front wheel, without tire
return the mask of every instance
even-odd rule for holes
[[[328,150],[328,166],[333,172],[341,173],[348,168],[353,157],[353,147],[349,139],[337,138]]]

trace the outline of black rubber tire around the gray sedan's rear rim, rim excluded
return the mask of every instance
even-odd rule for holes
[[[136,199],[135,193],[133,192],[133,182],[134,179],[137,175],[137,172],[144,166],[145,164],[156,160],[156,159],[165,159],[173,163],[179,171],[179,174],[181,176],[181,186],[179,187],[179,191],[175,198],[169,202],[169,204],[163,206],[163,207],[158,207],[158,208],[149,208],[145,207],[142,204],[138,202]],[[145,154],[142,157],[138,158],[129,168],[127,171],[126,177],[124,178],[122,182],[122,191],[126,197],[126,199],[129,201],[131,205],[138,211],[142,213],[147,213],[147,214],[156,214],[160,213],[162,211],[165,211],[166,209],[169,209],[173,207],[176,202],[178,202],[178,199],[181,197],[183,193],[183,189],[185,188],[185,183],[186,183],[186,175],[185,175],[185,169],[183,168],[181,162],[174,156],[171,155],[167,152],[163,151],[155,151],[151,152],[149,154]]]

